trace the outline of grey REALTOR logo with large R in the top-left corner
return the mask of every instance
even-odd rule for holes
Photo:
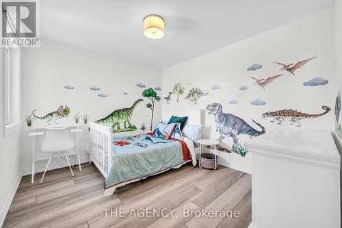
[[[39,47],[38,1],[1,1],[1,47]]]

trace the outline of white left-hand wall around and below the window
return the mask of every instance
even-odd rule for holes
[[[3,50],[0,49],[2,52]],[[16,192],[18,181],[21,179],[20,173],[20,128],[12,131],[6,136],[3,135],[3,55],[0,53],[0,227],[8,212],[12,197]]]

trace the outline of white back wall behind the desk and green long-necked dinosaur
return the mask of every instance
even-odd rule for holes
[[[100,90],[90,90],[93,86]],[[147,99],[142,97],[142,92],[158,86],[161,87],[159,69],[122,62],[108,55],[51,40],[41,40],[38,49],[23,50],[23,116],[31,114],[32,110],[43,116],[57,110],[60,105],[68,105],[70,115],[57,122],[59,125],[73,125],[77,112],[91,116],[90,121],[97,121],[114,110],[131,107],[137,99],[144,99],[135,108],[131,122],[137,128],[142,123],[149,127],[150,110],[146,107]],[[98,94],[107,94],[107,97],[98,97]],[[160,116],[161,104],[157,102],[155,123]],[[36,120],[32,127],[47,127],[46,122]],[[81,162],[87,162],[88,153],[84,151],[88,141],[88,125],[83,124],[81,118],[79,125],[83,129],[79,144]],[[23,122],[21,169],[24,174],[31,172],[28,132],[29,127]],[[131,132],[134,134],[135,131]],[[43,170],[46,162],[37,162],[37,169]]]

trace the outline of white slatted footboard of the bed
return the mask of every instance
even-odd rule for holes
[[[111,134],[109,126],[94,122],[90,127],[90,162],[94,162],[104,177],[107,177],[111,168]]]

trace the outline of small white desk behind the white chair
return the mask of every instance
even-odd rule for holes
[[[58,128],[60,128],[60,127],[64,127],[64,126],[58,126]],[[70,151],[71,152],[70,154],[73,154],[73,153],[76,154],[77,153],[77,149],[78,149],[78,146],[77,146],[77,142],[78,142],[78,140],[77,140],[77,133],[81,132],[82,129],[79,129],[79,126],[77,126],[77,125],[75,125],[75,126],[65,126],[65,127],[71,128],[70,129],[71,133],[75,134],[76,148],[75,148],[75,151]],[[38,151],[36,149],[36,138],[44,135],[44,129],[45,129],[44,127],[31,128],[31,132],[28,134],[28,136],[31,137],[31,151],[32,151],[31,183],[34,183],[34,175],[36,174],[36,169],[35,169],[36,161],[47,160],[47,159],[49,159],[49,156],[50,156],[50,155],[47,155],[47,154],[43,153],[42,151],[40,151],[38,156],[36,155],[36,151]]]

